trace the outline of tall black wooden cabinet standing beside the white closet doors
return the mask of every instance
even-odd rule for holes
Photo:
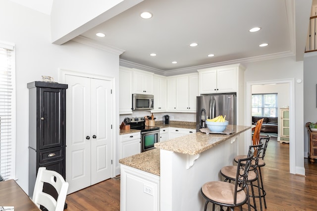
[[[29,89],[29,196],[33,197],[39,167],[65,177],[67,84],[34,81]],[[50,184],[44,192],[57,198]],[[66,205],[67,207],[67,205]]]

